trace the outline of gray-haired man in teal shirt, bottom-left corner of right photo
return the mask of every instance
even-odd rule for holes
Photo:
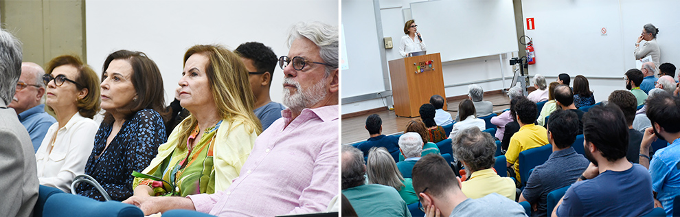
[[[411,216],[406,202],[394,187],[365,184],[366,166],[359,149],[344,145],[341,155],[342,194],[350,201],[357,216]]]

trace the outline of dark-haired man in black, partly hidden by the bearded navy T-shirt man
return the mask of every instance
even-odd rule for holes
[[[611,104],[619,106],[619,109],[624,113],[626,118],[626,126],[628,126],[628,152],[626,152],[626,159],[633,163],[639,163],[640,142],[642,142],[642,133],[633,128],[633,119],[635,119],[635,109],[637,103],[635,95],[628,91],[613,91],[609,94],[607,101]]]

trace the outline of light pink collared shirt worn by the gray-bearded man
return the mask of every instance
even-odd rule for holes
[[[289,109],[281,114],[256,139],[227,190],[188,196],[196,211],[277,216],[326,210],[339,194],[338,105],[304,109],[292,122]]]

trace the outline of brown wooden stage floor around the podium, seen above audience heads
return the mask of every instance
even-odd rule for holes
[[[510,98],[505,93],[497,93],[493,95],[484,95],[484,100],[493,103],[494,113],[510,108]],[[462,100],[449,101],[449,113],[451,117],[455,118],[458,110],[458,104]],[[412,119],[411,117],[397,117],[394,111],[381,111],[376,113],[383,119],[383,134],[391,135],[394,133],[401,133],[406,129],[406,124]],[[357,117],[342,119],[342,144],[352,144],[357,141],[365,141],[368,139],[368,131],[365,128],[366,118],[372,114],[361,115]],[[414,117],[413,119],[420,119]]]

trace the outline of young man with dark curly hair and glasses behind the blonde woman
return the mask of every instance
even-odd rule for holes
[[[243,43],[234,50],[248,69],[248,80],[255,95],[255,115],[262,123],[262,131],[266,130],[271,123],[281,117],[281,111],[286,109],[283,104],[272,102],[269,98],[269,87],[276,68],[276,54],[271,47],[262,43]]]

